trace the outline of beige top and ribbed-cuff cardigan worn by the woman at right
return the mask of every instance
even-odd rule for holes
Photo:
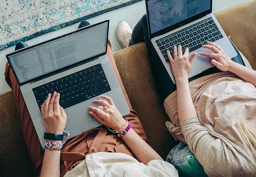
[[[198,118],[179,123],[176,92],[164,103],[173,137],[188,144],[210,177],[256,176],[256,158],[236,126],[245,122],[256,134],[256,88],[229,72],[199,78],[189,87]]]

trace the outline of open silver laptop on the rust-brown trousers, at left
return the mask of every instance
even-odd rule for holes
[[[99,106],[93,100],[101,94],[113,99],[122,116],[130,113],[106,55],[108,32],[105,20],[6,55],[43,148],[41,106],[48,93],[60,93],[71,138],[101,125],[88,109]]]

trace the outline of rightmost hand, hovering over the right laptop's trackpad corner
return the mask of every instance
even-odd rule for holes
[[[212,64],[219,68],[222,71],[230,71],[230,67],[234,64],[234,62],[228,57],[228,55],[219,47],[217,44],[212,42],[207,42],[209,45],[203,46],[203,48],[210,49],[214,53],[211,52],[200,52],[200,55],[204,55],[212,59]]]

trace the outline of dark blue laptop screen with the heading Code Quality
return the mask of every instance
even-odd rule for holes
[[[151,34],[211,9],[211,0],[147,0]]]

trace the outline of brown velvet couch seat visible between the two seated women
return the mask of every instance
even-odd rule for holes
[[[154,79],[145,43],[114,53],[117,69],[124,83],[131,105],[146,132],[148,143],[166,159],[177,144],[165,126],[165,113]]]

